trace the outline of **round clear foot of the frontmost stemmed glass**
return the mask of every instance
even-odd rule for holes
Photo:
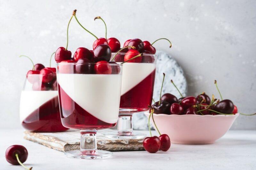
[[[112,156],[112,152],[103,151],[103,150],[92,150],[92,151],[81,151],[81,150],[74,150],[65,152],[70,158],[76,159],[104,159]]]

